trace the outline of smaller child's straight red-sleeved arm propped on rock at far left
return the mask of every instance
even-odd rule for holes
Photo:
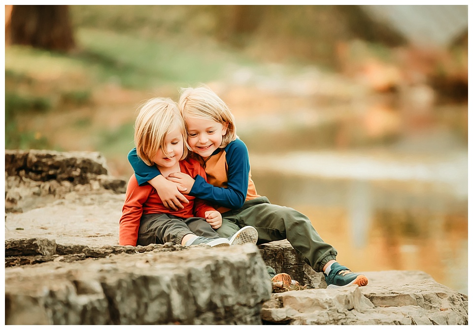
[[[148,189],[149,190],[149,189]],[[139,220],[143,214],[143,204],[146,202],[147,194],[142,193],[134,176],[130,178],[125,195],[125,203],[122,208],[122,216],[119,225],[119,244],[136,246],[138,240]]]

